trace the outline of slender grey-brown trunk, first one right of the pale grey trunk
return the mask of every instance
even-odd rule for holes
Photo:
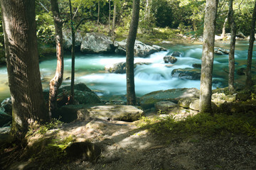
[[[230,94],[235,92],[234,79],[235,79],[235,20],[234,20],[234,11],[233,11],[233,0],[229,1],[229,10],[228,10],[228,23],[231,28],[231,39],[230,39],[230,53],[228,55],[228,90]]]

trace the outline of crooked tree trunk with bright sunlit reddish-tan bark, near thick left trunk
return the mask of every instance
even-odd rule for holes
[[[50,93],[49,93],[49,115],[51,116],[53,111],[57,108],[57,92],[63,81],[63,22],[60,18],[60,12],[58,8],[58,0],[50,0],[51,11],[53,12],[53,19],[55,25],[55,42],[56,42],[56,56],[57,67],[55,77],[50,80]]]

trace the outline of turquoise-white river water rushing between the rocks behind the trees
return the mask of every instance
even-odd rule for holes
[[[235,67],[239,69],[246,67],[247,48],[249,42],[238,41],[235,51]],[[219,43],[216,47],[224,49],[229,48],[228,43]],[[138,65],[134,70],[135,73],[135,90],[137,96],[142,96],[151,91],[191,88],[199,89],[199,80],[178,79],[171,77],[173,69],[192,68],[192,64],[201,64],[202,45],[195,44],[178,44],[166,46],[167,52],[156,52],[149,57],[135,57],[134,62],[150,62],[149,65]],[[255,49],[255,48],[254,48]],[[171,55],[174,51],[182,52],[181,57],[177,57],[175,64],[165,64],[164,56]],[[253,64],[255,66],[256,52],[253,53]],[[97,91],[99,96],[112,96],[126,94],[126,75],[114,74],[105,71],[105,66],[117,62],[125,62],[125,56],[122,55],[84,55],[76,54],[75,58],[75,84],[80,82],[87,84],[92,90]],[[64,79],[70,77],[71,59],[70,55],[65,55],[65,72]],[[169,66],[169,67],[166,67]],[[48,88],[48,82],[55,74],[56,60],[52,59],[40,63],[41,79],[43,89]],[[253,67],[254,68],[254,67]],[[213,79],[222,82],[222,86],[227,85],[228,80],[228,55],[215,55],[213,67]],[[236,74],[235,82],[244,83],[245,76]],[[7,79],[6,67],[0,68],[0,101],[9,97],[9,86]],[[70,80],[63,80],[64,85],[70,84]],[[219,84],[220,85],[220,84]],[[215,84],[213,88],[219,86]]]

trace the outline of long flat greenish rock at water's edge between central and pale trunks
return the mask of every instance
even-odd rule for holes
[[[169,89],[165,91],[153,91],[140,98],[142,108],[154,108],[154,104],[159,101],[172,101],[178,103],[181,98],[199,98],[199,90],[196,88]]]

